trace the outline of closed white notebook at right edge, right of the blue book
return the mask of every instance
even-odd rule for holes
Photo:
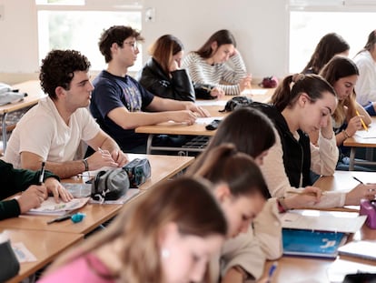
[[[340,255],[376,260],[375,241],[352,241],[339,248]]]

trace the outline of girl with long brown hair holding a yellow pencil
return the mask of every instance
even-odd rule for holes
[[[322,68],[320,75],[333,86],[338,105],[332,114],[333,130],[336,137],[337,147],[340,148],[340,159],[337,170],[349,170],[349,149],[343,147],[343,141],[354,136],[357,130],[361,130],[364,125],[371,124],[371,116],[355,100],[354,86],[356,86],[359,70],[351,59],[343,56],[334,56],[331,61]],[[311,141],[315,144],[318,132],[310,134]],[[356,170],[366,170],[365,167],[356,167]]]

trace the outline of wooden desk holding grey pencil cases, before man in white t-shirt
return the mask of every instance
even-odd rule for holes
[[[152,167],[152,176],[140,187],[142,192],[137,197],[142,196],[148,188],[159,184],[163,180],[173,177],[185,167],[190,166],[194,161],[194,157],[157,155],[147,156],[135,154],[129,154],[128,156],[131,160],[136,157],[147,157]],[[83,179],[77,179],[75,177],[72,179],[65,179],[64,181],[82,182]],[[123,205],[87,204],[79,209],[80,212],[86,214],[84,220],[79,223],[73,223],[72,221],[68,220],[47,225],[46,222],[53,219],[54,216],[20,216],[0,221],[0,228],[38,229],[45,231],[87,234],[93,231],[94,228],[103,224],[105,221],[116,216],[122,207]]]

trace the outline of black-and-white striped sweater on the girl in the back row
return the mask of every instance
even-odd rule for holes
[[[247,76],[242,56],[237,53],[230,57],[233,68],[226,63],[209,65],[206,61],[191,52],[183,58],[182,67],[188,70],[194,83],[219,86],[229,96],[240,94],[239,81]]]

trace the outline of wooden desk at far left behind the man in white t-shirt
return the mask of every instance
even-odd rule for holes
[[[20,92],[25,92],[27,96],[20,101],[12,104],[7,104],[5,106],[0,106],[0,115],[3,116],[2,121],[2,135],[3,135],[3,151],[6,149],[6,116],[17,110],[24,109],[28,106],[34,106],[38,103],[39,99],[45,97],[45,93],[42,91],[38,80],[26,81],[24,83],[16,84],[12,86],[13,89],[19,89]]]

